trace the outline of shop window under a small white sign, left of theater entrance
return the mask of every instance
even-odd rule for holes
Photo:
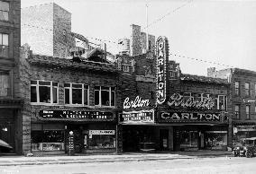
[[[88,149],[115,148],[114,130],[89,130]]]

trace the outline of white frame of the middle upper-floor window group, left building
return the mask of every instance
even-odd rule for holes
[[[69,87],[65,87],[65,84],[69,84]],[[80,89],[80,88],[73,88],[73,84],[81,84],[82,85],[82,88],[81,88],[81,91],[82,91],[82,103],[81,104],[78,104],[78,103],[73,103],[73,89]],[[86,88],[85,87],[88,87],[87,88],[87,104],[85,104],[85,90]],[[66,103],[66,89],[69,89],[69,103]],[[89,106],[89,85],[88,84],[84,84],[84,83],[64,83],[64,105],[71,105],[71,106]]]

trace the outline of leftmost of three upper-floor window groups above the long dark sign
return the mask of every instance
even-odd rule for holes
[[[51,81],[31,82],[31,102],[37,103],[58,103],[58,83]]]

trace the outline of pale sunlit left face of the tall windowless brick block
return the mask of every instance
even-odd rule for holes
[[[22,45],[28,43],[35,54],[52,56],[52,39],[53,4],[41,4],[23,8]]]

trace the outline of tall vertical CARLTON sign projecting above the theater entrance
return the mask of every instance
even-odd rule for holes
[[[166,63],[167,63],[167,38],[157,39],[157,103],[162,104],[166,100]]]

